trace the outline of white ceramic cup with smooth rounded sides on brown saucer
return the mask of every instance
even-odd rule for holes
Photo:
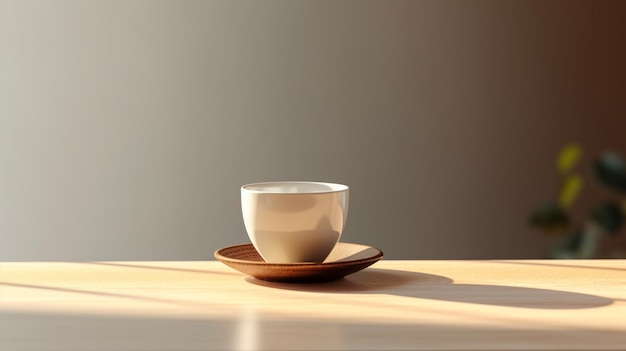
[[[248,237],[269,263],[323,262],[348,216],[348,186],[266,182],[241,187]]]

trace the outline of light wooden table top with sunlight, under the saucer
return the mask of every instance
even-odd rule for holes
[[[216,261],[0,264],[0,350],[625,350],[626,260],[380,261],[258,281]]]

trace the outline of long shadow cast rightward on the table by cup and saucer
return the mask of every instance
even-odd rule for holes
[[[452,279],[426,273],[367,269],[346,278],[313,284],[276,283],[247,277],[251,284],[274,289],[321,293],[373,293],[420,299],[537,309],[594,308],[612,299],[561,290],[508,285],[455,284]]]

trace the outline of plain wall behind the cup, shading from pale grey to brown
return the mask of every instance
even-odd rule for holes
[[[351,187],[386,257],[544,257],[626,150],[624,2],[0,0],[0,260],[204,260],[242,184]]]

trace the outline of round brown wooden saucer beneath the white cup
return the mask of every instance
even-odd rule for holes
[[[341,279],[380,260],[383,252],[371,246],[340,242],[323,263],[267,263],[252,244],[242,244],[219,249],[214,256],[260,280],[307,283]]]

